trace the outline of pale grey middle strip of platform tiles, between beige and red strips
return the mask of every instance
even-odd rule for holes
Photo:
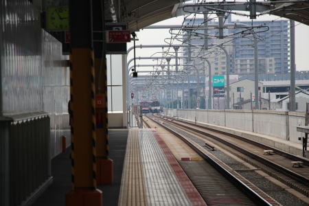
[[[152,130],[139,130],[148,205],[191,205]]]

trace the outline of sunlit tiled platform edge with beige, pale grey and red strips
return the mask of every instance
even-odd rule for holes
[[[130,129],[119,205],[206,205],[155,129]]]

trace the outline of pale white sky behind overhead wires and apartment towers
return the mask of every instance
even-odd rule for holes
[[[234,16],[232,15],[232,21],[236,21],[239,19],[240,21],[250,21],[248,17],[242,16]],[[282,20],[284,18],[280,18],[279,16],[273,15],[264,15],[258,17],[257,21],[273,21],[273,20]],[[161,21],[159,23],[155,23],[155,25],[181,25],[183,22],[183,16],[178,16],[176,18],[167,19],[165,21]],[[138,41],[136,41],[136,45],[162,45],[166,44],[164,42],[164,38],[170,38],[171,34],[168,32],[169,30],[160,29],[160,30],[139,30],[136,32]],[[295,21],[295,61],[296,61],[296,69],[297,71],[309,71],[309,26],[298,23]],[[133,47],[133,41],[128,43],[128,48]],[[162,49],[161,48],[151,48],[151,49],[136,49],[136,57],[146,57],[146,56],[161,56]],[[179,54],[181,56],[181,54]],[[133,58],[133,51],[128,54],[128,60]],[[153,60],[137,60],[137,65],[141,64],[155,64],[157,61]],[[173,60],[171,61],[171,65],[174,64]],[[133,65],[133,62],[130,66]],[[149,69],[148,69],[149,70]],[[137,71],[139,71],[139,67],[137,67]]]

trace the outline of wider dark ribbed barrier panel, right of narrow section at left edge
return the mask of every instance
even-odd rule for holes
[[[49,117],[34,114],[10,124],[10,205],[21,205],[51,178]]]

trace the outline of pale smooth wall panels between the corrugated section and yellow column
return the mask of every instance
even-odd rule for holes
[[[47,32],[42,32],[42,107],[51,119],[51,156],[61,152],[62,135],[70,137],[69,113],[69,68],[63,67],[61,44]],[[67,145],[70,139],[67,138]]]

